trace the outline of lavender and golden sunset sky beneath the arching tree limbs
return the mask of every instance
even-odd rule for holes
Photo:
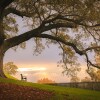
[[[23,22],[21,18],[18,18],[19,33],[27,31],[23,28]],[[18,48],[15,52],[9,49],[4,57],[4,63],[14,62],[15,65],[19,67],[17,78],[20,79],[20,73],[26,75],[28,81],[37,82],[41,78],[49,78],[55,82],[68,82],[69,79],[66,75],[62,74],[63,69],[57,67],[57,62],[60,60],[59,52],[60,50],[56,45],[51,45],[46,48],[42,54],[35,56],[33,55],[33,40],[27,42],[26,49]],[[85,64],[81,59],[82,67],[84,69]],[[80,77],[84,76],[84,71],[80,73]]]

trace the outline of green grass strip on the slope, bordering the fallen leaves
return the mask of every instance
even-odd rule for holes
[[[98,91],[36,84],[36,83],[23,82],[23,81],[13,80],[13,79],[0,78],[0,82],[13,83],[13,84],[18,84],[23,86],[31,86],[31,87],[35,87],[47,91],[54,91],[55,96],[51,98],[51,100],[100,100],[100,92]]]

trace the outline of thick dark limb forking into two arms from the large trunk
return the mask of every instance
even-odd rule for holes
[[[54,29],[54,28],[60,28],[60,27],[74,28],[73,25],[65,24],[65,23],[64,24],[62,24],[62,23],[52,24],[52,25],[48,25],[48,26],[40,26],[36,29],[28,31],[28,32],[21,34],[19,36],[15,36],[13,38],[5,40],[5,43],[4,43],[5,51],[7,49],[13,47],[13,46],[19,45],[20,43],[29,40],[32,37],[40,37],[40,38],[48,38],[48,39],[52,39],[52,40],[62,42],[66,45],[71,46],[77,53],[82,55],[82,52],[80,50],[78,50],[78,48],[73,43],[66,42],[59,37],[54,37],[54,36],[47,35],[47,34],[41,34],[42,32],[45,32],[45,31],[48,31],[48,30],[51,30],[51,29]]]

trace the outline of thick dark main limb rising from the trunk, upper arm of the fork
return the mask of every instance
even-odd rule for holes
[[[18,35],[13,38],[5,40],[5,43],[4,43],[4,45],[6,45],[5,50],[9,49],[10,47],[16,46],[22,42],[25,42],[32,37],[42,36],[42,34],[41,34],[42,32],[49,31],[49,30],[55,29],[55,28],[60,28],[60,27],[74,28],[75,26],[71,23],[57,23],[57,24],[50,24],[48,26],[41,25],[36,29],[33,29],[33,30],[23,33],[21,35]],[[45,38],[47,38],[47,35],[45,36]],[[51,37],[49,37],[49,38],[51,38]]]

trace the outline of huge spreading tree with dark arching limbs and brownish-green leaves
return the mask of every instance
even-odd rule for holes
[[[16,17],[26,23],[27,32],[18,33]],[[100,49],[99,32],[100,0],[0,0],[0,76],[6,77],[5,52],[18,45],[24,48],[24,42],[31,38],[38,53],[44,49],[43,38],[47,45],[58,45],[66,71],[77,67],[79,55],[88,67],[100,68],[89,57],[94,49]]]

